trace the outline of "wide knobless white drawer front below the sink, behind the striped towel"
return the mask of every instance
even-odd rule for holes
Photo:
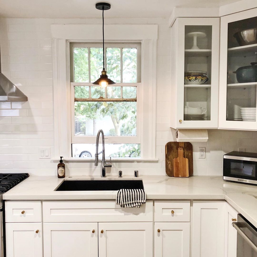
[[[153,221],[153,202],[121,208],[113,201],[43,201],[44,222]]]

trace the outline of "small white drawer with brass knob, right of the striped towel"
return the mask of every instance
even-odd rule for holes
[[[190,201],[154,201],[154,221],[190,222]]]

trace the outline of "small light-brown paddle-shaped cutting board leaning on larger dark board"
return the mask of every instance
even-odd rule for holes
[[[183,156],[183,147],[178,149],[178,158],[173,159],[173,176],[189,177],[188,159]]]

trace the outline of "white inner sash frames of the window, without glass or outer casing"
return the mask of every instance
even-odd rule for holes
[[[70,74],[74,73],[71,70],[74,69],[72,67],[73,63],[73,53],[74,51],[71,51],[71,49],[73,50],[74,47],[84,47],[84,48],[92,48],[92,47],[96,47],[96,48],[101,48],[103,47],[102,43],[72,43],[73,47],[70,47]],[[104,43],[105,48],[111,48],[111,47],[117,47],[117,48],[137,48],[137,81],[141,81],[141,43],[137,42],[137,43],[110,43],[110,42],[105,42]],[[71,46],[71,45],[70,45]],[[105,51],[106,52],[106,51]],[[121,60],[122,61],[122,60]],[[106,53],[105,53],[105,63],[106,62]],[[90,67],[90,66],[89,66]],[[106,69],[107,70],[107,69]],[[72,73],[71,73],[72,72]],[[101,71],[99,71],[100,74]],[[107,70],[108,72],[108,70]],[[122,74],[122,72],[121,72]],[[122,76],[122,75],[121,75]],[[74,76],[73,76],[74,77]],[[73,78],[74,80],[74,78]],[[74,86],[96,86],[96,85],[92,85],[92,82],[70,82],[70,90],[71,90],[71,143],[72,144],[95,144],[96,142],[96,137],[95,136],[75,136],[75,104],[74,104]],[[142,92],[141,92],[141,82],[136,82],[136,83],[116,83],[112,86],[135,86],[137,87],[137,115],[136,115],[136,136],[105,136],[105,141],[108,144],[140,144],[140,125],[142,123]],[[105,98],[107,98],[107,96],[105,96]],[[104,130],[104,129],[103,129]]]

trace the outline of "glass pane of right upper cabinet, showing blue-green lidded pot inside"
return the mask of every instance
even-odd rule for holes
[[[226,120],[256,121],[257,17],[228,23]]]

